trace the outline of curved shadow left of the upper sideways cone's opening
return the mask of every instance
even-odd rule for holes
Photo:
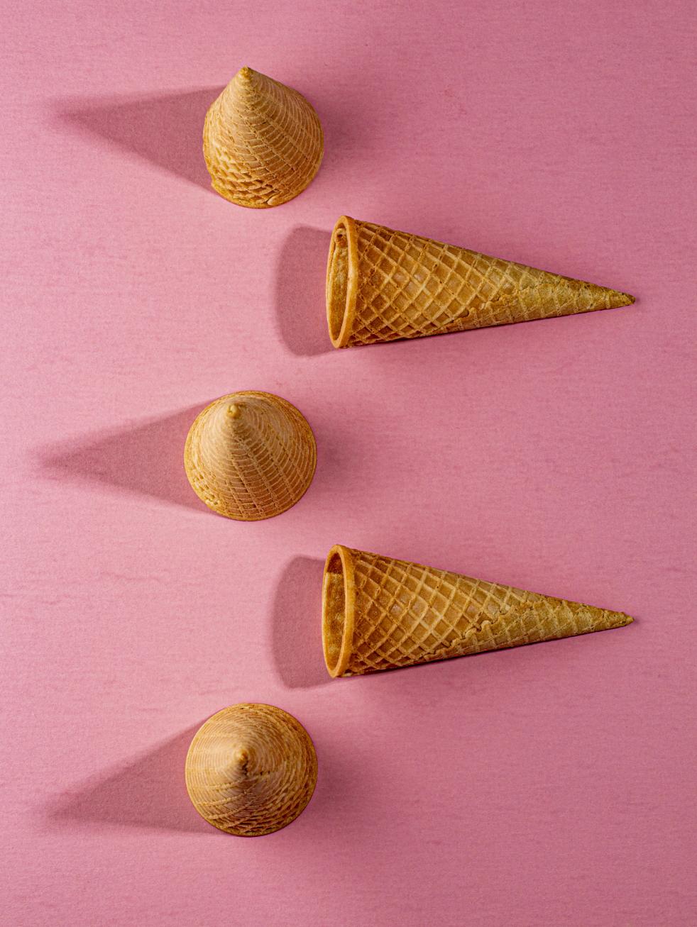
[[[299,225],[281,248],[276,272],[278,329],[299,357],[334,350],[324,297],[330,238],[329,232]]]

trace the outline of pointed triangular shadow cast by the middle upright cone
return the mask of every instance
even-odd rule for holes
[[[60,482],[101,483],[204,514],[184,471],[184,442],[200,408],[41,449],[41,473]]]

